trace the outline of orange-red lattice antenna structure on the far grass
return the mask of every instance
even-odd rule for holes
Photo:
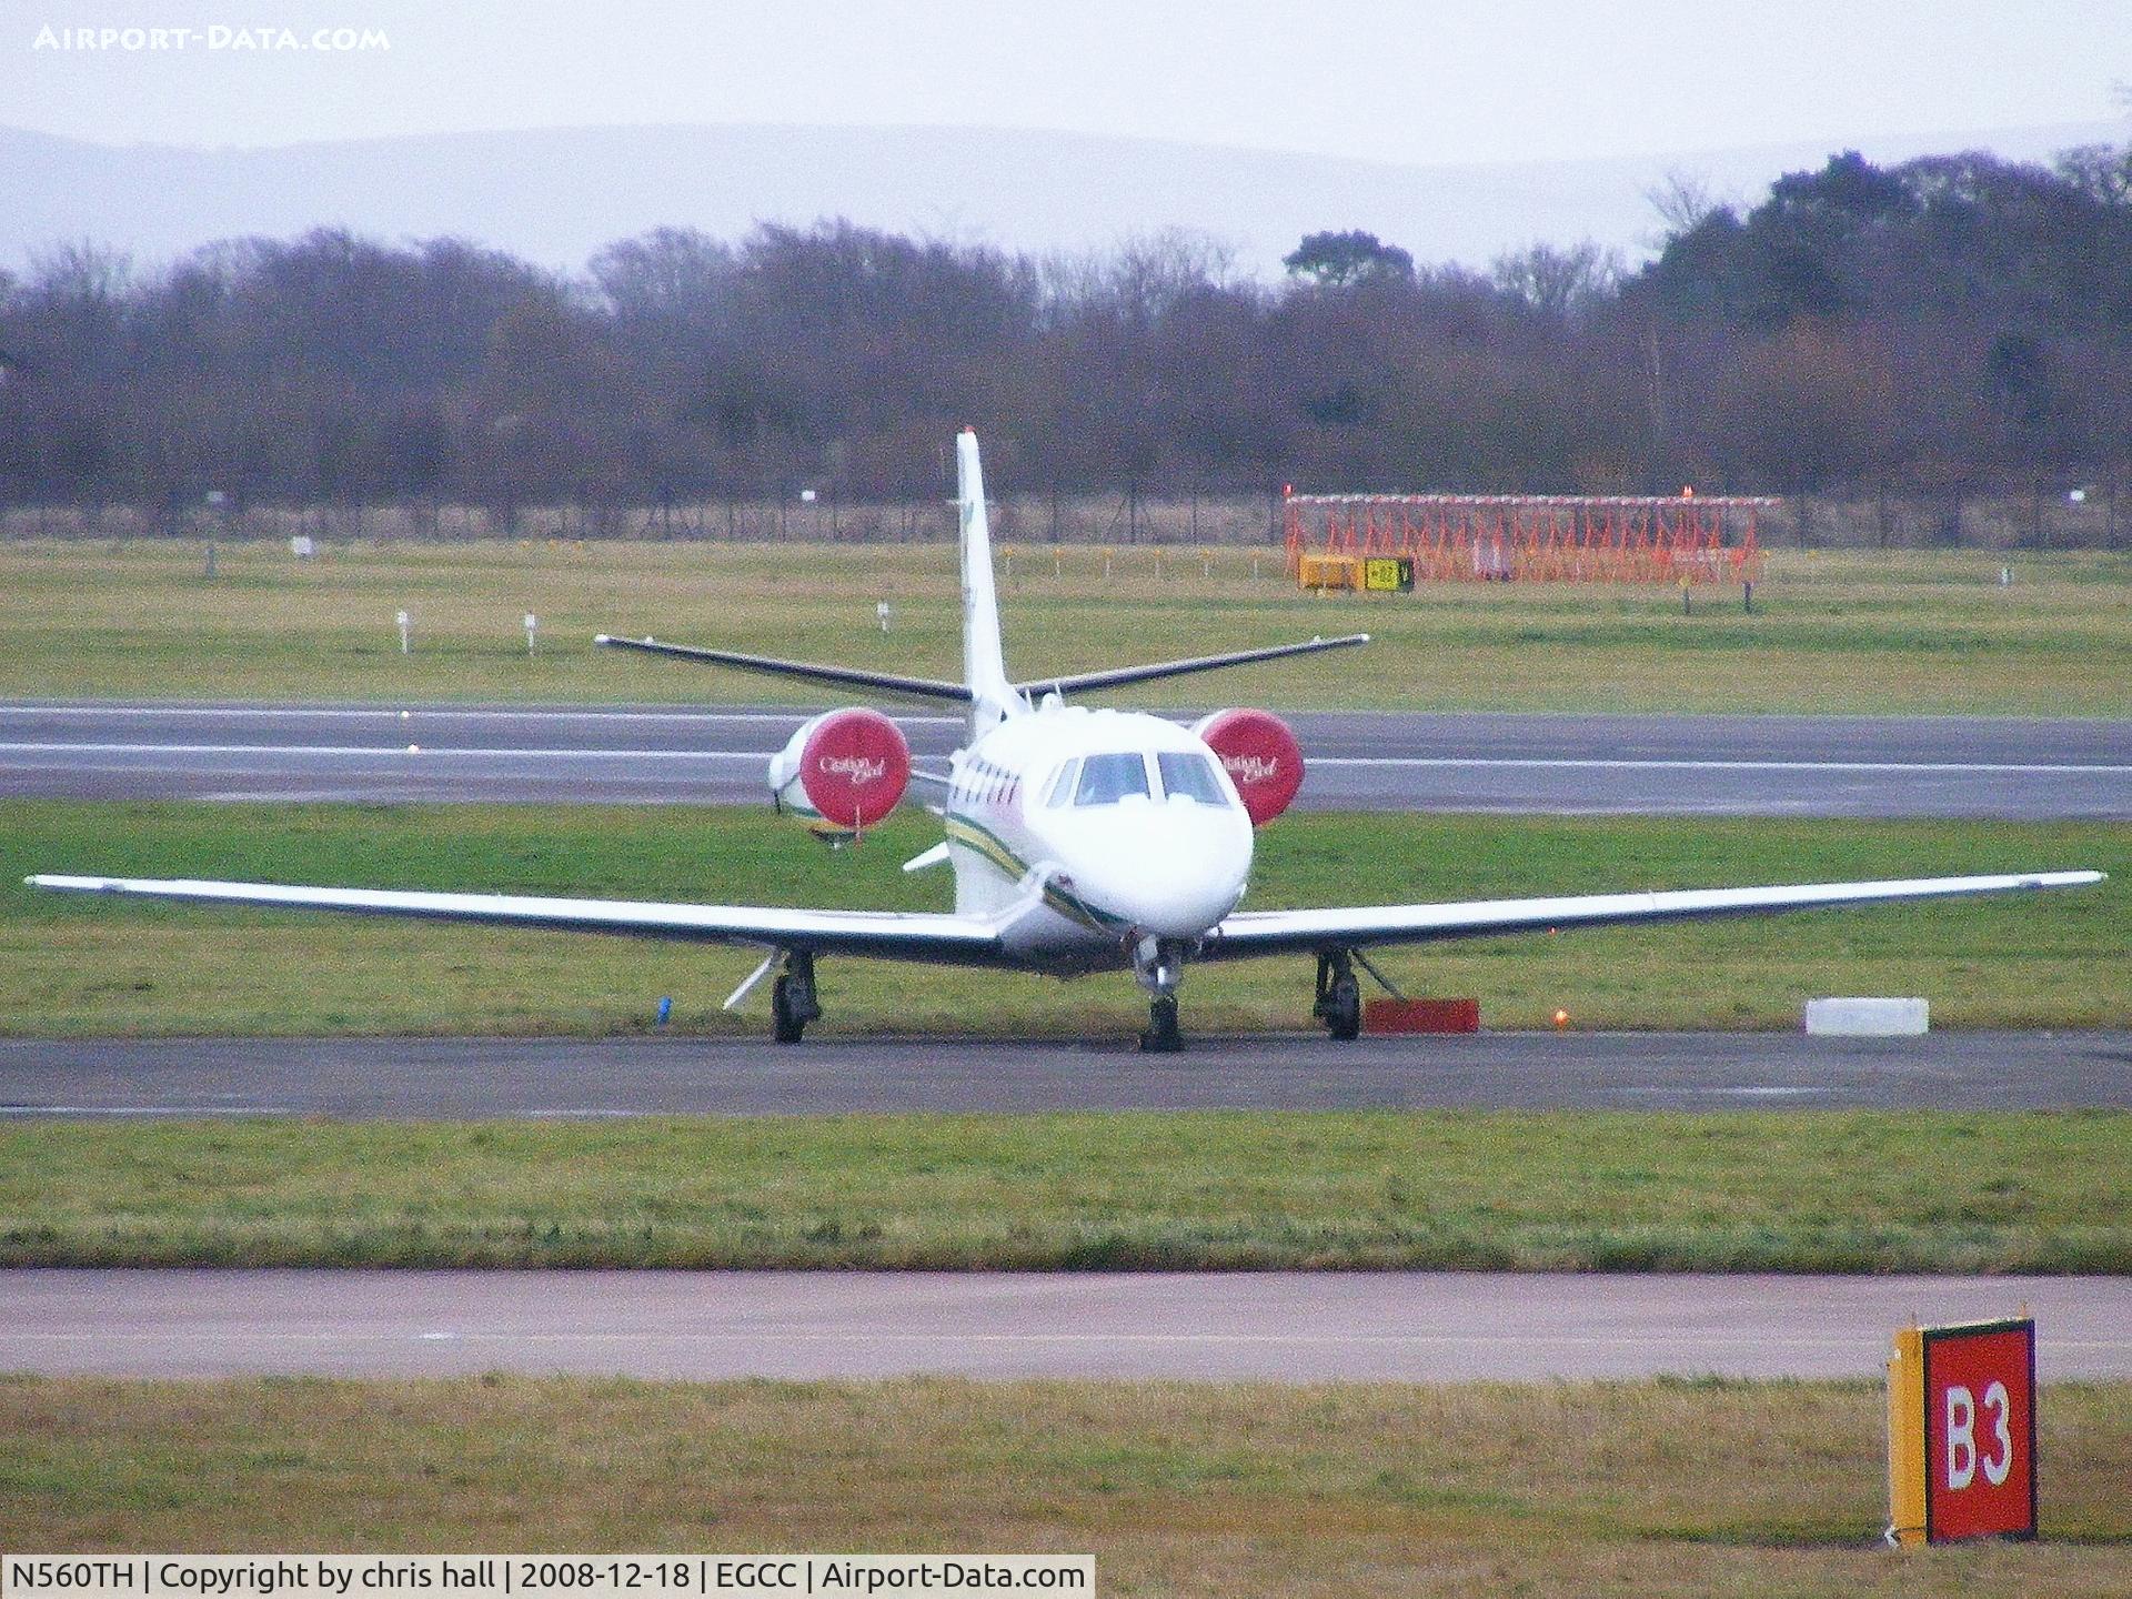
[[[1288,495],[1288,576],[1305,556],[1407,556],[1418,582],[1755,582],[1740,495]]]

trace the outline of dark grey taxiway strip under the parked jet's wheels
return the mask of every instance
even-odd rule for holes
[[[629,1117],[836,1111],[2132,1107],[2132,1034],[0,1040],[0,1117]]]

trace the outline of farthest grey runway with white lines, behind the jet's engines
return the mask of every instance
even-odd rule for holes
[[[0,706],[0,795],[763,804],[804,712]],[[1190,714],[1190,712],[1179,712]],[[2132,819],[2132,723],[1307,712],[1322,810]],[[902,725],[942,768],[953,716]]]

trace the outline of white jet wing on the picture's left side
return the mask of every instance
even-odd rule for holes
[[[194,904],[341,910],[369,917],[475,921],[497,927],[605,932],[817,955],[878,955],[957,966],[1002,962],[1000,934],[974,917],[915,910],[789,910],[780,906],[659,904],[650,900],[554,900],[533,893],[422,893],[403,889],[322,889],[286,883],[205,883],[194,878],[32,876],[30,887],[60,893],[130,893]]]

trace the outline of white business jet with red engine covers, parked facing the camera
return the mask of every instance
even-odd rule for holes
[[[768,953],[727,1000],[727,1008],[774,972],[778,1043],[797,1043],[806,1023],[821,1015],[814,994],[814,959],[821,955],[1057,976],[1132,970],[1149,996],[1149,1025],[1141,1043],[1164,1051],[1179,1047],[1177,985],[1192,962],[1315,955],[1313,1015],[1335,1038],[1354,1038],[1362,1021],[1356,966],[1375,974],[1367,951],[1377,944],[2102,881],[2102,872],[2015,872],[1467,904],[1239,910],[1251,876],[1254,829],[1281,814],[1303,782],[1303,755],[1288,727],[1262,710],[1222,710],[1183,727],[1145,712],[1092,710],[1066,701],[1070,695],[1128,682],[1347,648],[1367,644],[1369,635],[1015,682],[1006,676],[1000,650],[985,480],[976,435],[968,431],[957,439],[955,505],[962,518],[962,682],[776,661],[648,637],[597,640],[804,682],[966,706],[970,740],[951,757],[944,774],[912,772],[910,748],[895,723],[863,708],[814,716],[770,761],[772,800],[829,842],[849,840],[878,823],[902,800],[912,776],[934,787],[938,804],[930,808],[940,814],[947,838],[908,861],[906,870],[951,866],[953,912],[787,910],[109,876],[28,881],[75,893],[141,893],[209,904],[746,944]]]

